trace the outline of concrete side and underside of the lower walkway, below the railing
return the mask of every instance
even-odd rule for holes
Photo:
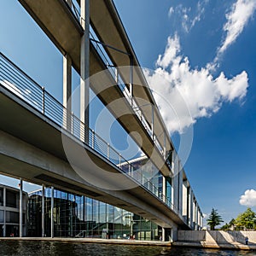
[[[82,173],[85,179],[88,177],[91,180],[92,177],[103,188],[106,184],[113,189],[127,184],[134,188],[101,189],[86,182],[67,161],[62,146],[61,127],[2,86],[0,89],[0,172],[22,177],[28,182],[44,183],[58,189],[89,195],[135,212],[166,228],[178,225],[182,229],[189,229],[164,203],[129,177],[123,174],[119,174],[122,178],[118,180],[109,177],[110,173],[119,173],[119,169],[66,133],[64,137],[77,157],[75,164],[79,168],[79,174]],[[84,154],[83,157],[80,156],[84,148],[87,158],[84,158]]]

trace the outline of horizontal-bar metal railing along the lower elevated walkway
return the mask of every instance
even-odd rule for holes
[[[61,129],[70,132],[73,137],[76,137],[91,149],[95,150],[96,153],[101,154],[105,160],[119,168],[119,171],[125,176],[137,182],[146,189],[148,193],[154,195],[178,214],[172,202],[165,195],[162,195],[160,189],[145,177],[142,172],[138,171],[137,166],[125,160],[109,143],[98,136],[95,131],[84,125],[73,113],[69,113],[61,102],[58,102],[44,87],[31,79],[1,52],[0,86],[3,86],[32,108],[44,114],[44,116],[60,126]],[[81,139],[85,137],[88,137],[88,142]]]

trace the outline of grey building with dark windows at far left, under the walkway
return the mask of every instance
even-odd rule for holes
[[[22,201],[22,236],[27,229],[27,193],[23,192]],[[20,189],[0,184],[0,236],[20,236]]]

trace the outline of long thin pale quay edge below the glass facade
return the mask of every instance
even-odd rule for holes
[[[62,238],[62,237],[0,237],[0,241],[61,241],[80,243],[102,243],[137,246],[171,247],[171,241],[143,241],[132,239]]]

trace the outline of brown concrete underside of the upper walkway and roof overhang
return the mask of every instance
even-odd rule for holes
[[[63,55],[68,53],[71,56],[73,67],[80,73],[80,39],[83,35],[83,29],[79,25],[67,6],[67,3],[63,0],[19,0],[24,6],[27,12],[32,15],[38,25],[44,30],[56,47],[61,51]],[[98,32],[102,42],[110,44],[117,49],[132,51],[131,45],[127,45],[129,40],[124,38],[125,32],[121,32],[123,28],[119,25],[118,18],[115,12],[113,12],[113,3],[111,1],[93,0],[90,1],[90,22],[96,32]],[[111,8],[112,6],[112,8]],[[123,38],[121,37],[123,35]],[[126,45],[125,43],[126,42]],[[113,63],[117,66],[129,66],[130,61],[127,55],[121,54],[118,51],[109,49],[108,52]],[[136,61],[136,58],[135,58]],[[137,63],[135,62],[135,65]],[[97,55],[96,50],[90,45],[90,76],[96,73],[102,72],[106,67],[103,64],[100,57]],[[127,84],[129,84],[129,69],[123,69],[123,78]],[[103,83],[102,83],[103,79]],[[160,151],[154,145],[148,132],[141,124],[137,115],[131,109],[129,103],[125,100],[122,92],[118,86],[112,86],[115,84],[111,75],[108,72],[101,76],[94,76],[90,79],[91,89],[94,90],[96,95],[102,100],[105,106],[113,116],[118,119],[119,123],[124,127],[125,131],[131,133],[131,137],[141,144],[143,152],[154,161],[154,165],[160,169],[165,176],[170,175],[169,167],[160,154]],[[137,98],[137,104],[139,106],[148,105],[153,102],[153,97],[148,86],[142,86],[147,84],[144,80],[143,74],[139,69],[134,69],[134,91],[133,95]],[[127,113],[127,114],[124,114]],[[148,124],[151,124],[152,119],[152,107],[151,105],[143,107],[143,113]],[[132,131],[136,131],[133,132]],[[154,134],[160,141],[162,147],[164,147],[163,131],[165,127],[158,108],[154,108]],[[169,143],[168,143],[169,142]],[[166,151],[171,150],[172,145],[169,141],[169,137],[166,137]]]

